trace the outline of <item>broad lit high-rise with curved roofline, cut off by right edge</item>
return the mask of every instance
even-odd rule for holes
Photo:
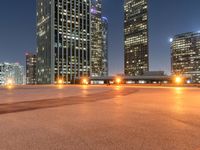
[[[171,44],[172,73],[191,77],[200,83],[200,33],[176,35]]]

